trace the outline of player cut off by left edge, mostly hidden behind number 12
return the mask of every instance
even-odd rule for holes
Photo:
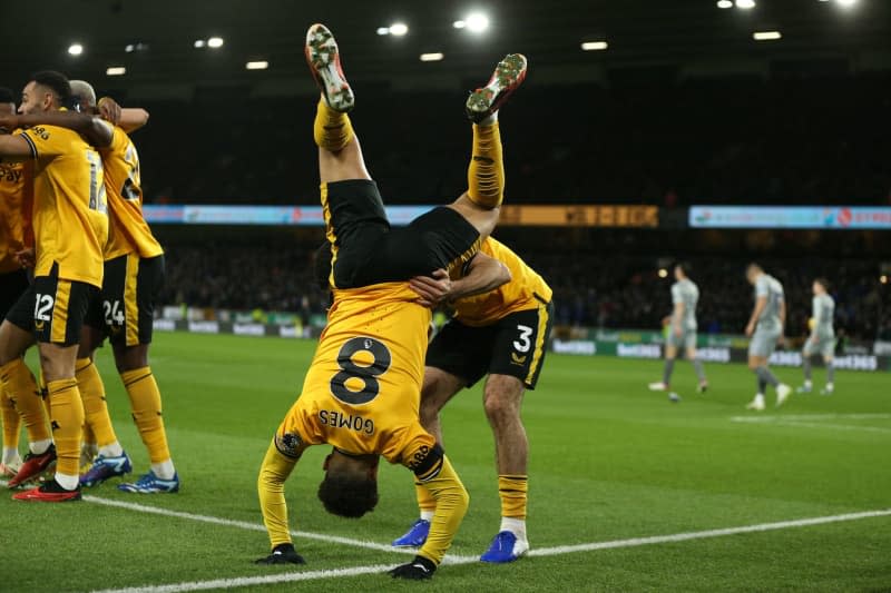
[[[16,112],[16,100],[12,91],[0,87],[0,117],[11,116]],[[6,130],[11,132],[13,130]],[[3,134],[3,131],[0,131]],[[25,248],[26,226],[28,225],[26,204],[30,200],[31,184],[23,162],[0,162],[0,318],[6,318],[9,309],[28,289],[28,273],[26,271],[20,255]],[[18,372],[27,370],[25,365],[17,364]],[[0,369],[7,375],[9,369]],[[28,372],[30,373],[30,372]],[[7,379],[8,380],[8,379]],[[46,425],[42,406],[37,394],[27,396],[33,406],[37,406],[37,422]],[[22,406],[27,405],[22,402]],[[21,432],[21,417],[12,399],[7,396],[3,380],[0,380],[0,421],[3,423],[3,454],[0,458],[0,477],[14,477],[21,468],[19,454],[19,433]],[[29,418],[29,422],[32,422]],[[47,433],[48,428],[45,428]],[[41,435],[42,436],[42,435]],[[48,433],[39,441],[48,439]],[[49,443],[42,443],[46,447]]]

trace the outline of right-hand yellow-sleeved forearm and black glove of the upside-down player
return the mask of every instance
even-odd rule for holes
[[[430,579],[446,557],[458,527],[470,505],[470,495],[458,477],[449,458],[437,445],[427,458],[414,468],[414,475],[437,501],[430,522],[430,534],[414,560],[396,566],[390,574],[398,579]]]

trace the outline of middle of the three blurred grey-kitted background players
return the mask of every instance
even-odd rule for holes
[[[783,332],[786,325],[786,302],[783,285],[773,276],[766,274],[760,265],[750,264],[745,270],[748,284],[755,287],[755,307],[745,335],[751,338],[748,343],[748,368],[757,377],[758,391],[755,398],[746,406],[748,409],[762,412],[764,391],[767,385],[776,389],[776,407],[782,406],[792,388],[780,383],[780,379],[768,368],[770,357],[777,344],[784,339]]]

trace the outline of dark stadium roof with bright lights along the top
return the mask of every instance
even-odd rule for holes
[[[0,24],[0,85],[18,89],[30,72],[53,68],[131,96],[188,97],[196,87],[229,86],[301,93],[312,89],[303,36],[315,21],[334,30],[351,77],[394,88],[463,86],[468,73],[476,81],[480,62],[488,67],[508,51],[529,56],[532,83],[891,70],[891,2],[723,6],[728,8],[715,0],[19,2],[14,18]],[[454,26],[470,7],[489,18],[484,31]],[[394,23],[408,30],[382,34]],[[606,49],[584,51],[585,42]],[[81,51],[69,53],[74,45]],[[248,61],[258,63],[248,70]],[[109,68],[125,70],[109,76]]]

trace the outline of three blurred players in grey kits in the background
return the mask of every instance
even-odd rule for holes
[[[708,380],[705,369],[696,352],[696,305],[699,302],[699,288],[689,278],[689,264],[677,264],[674,268],[675,283],[672,285],[672,303],[674,310],[666,318],[665,368],[659,382],[650,383],[654,392],[668,392],[672,402],[679,402],[681,396],[670,387],[672,373],[678,349],[684,348],[687,359],[693,364],[698,378],[697,392],[705,393]],[[758,264],[750,264],[745,277],[755,289],[755,306],[752,309],[745,335],[748,343],[748,368],[757,378],[757,392],[747,409],[763,412],[767,406],[764,399],[767,386],[776,392],[776,407],[782,406],[792,394],[792,387],[781,383],[770,369],[771,355],[785,340],[786,303],[783,285],[765,273]],[[813,391],[812,358],[820,355],[826,367],[826,383],[820,389],[822,395],[832,395],[835,388],[835,330],[832,322],[835,313],[835,300],[829,294],[829,281],[816,278],[812,285],[812,316],[809,320],[810,335],[802,349],[804,383],[796,389],[799,394]]]

